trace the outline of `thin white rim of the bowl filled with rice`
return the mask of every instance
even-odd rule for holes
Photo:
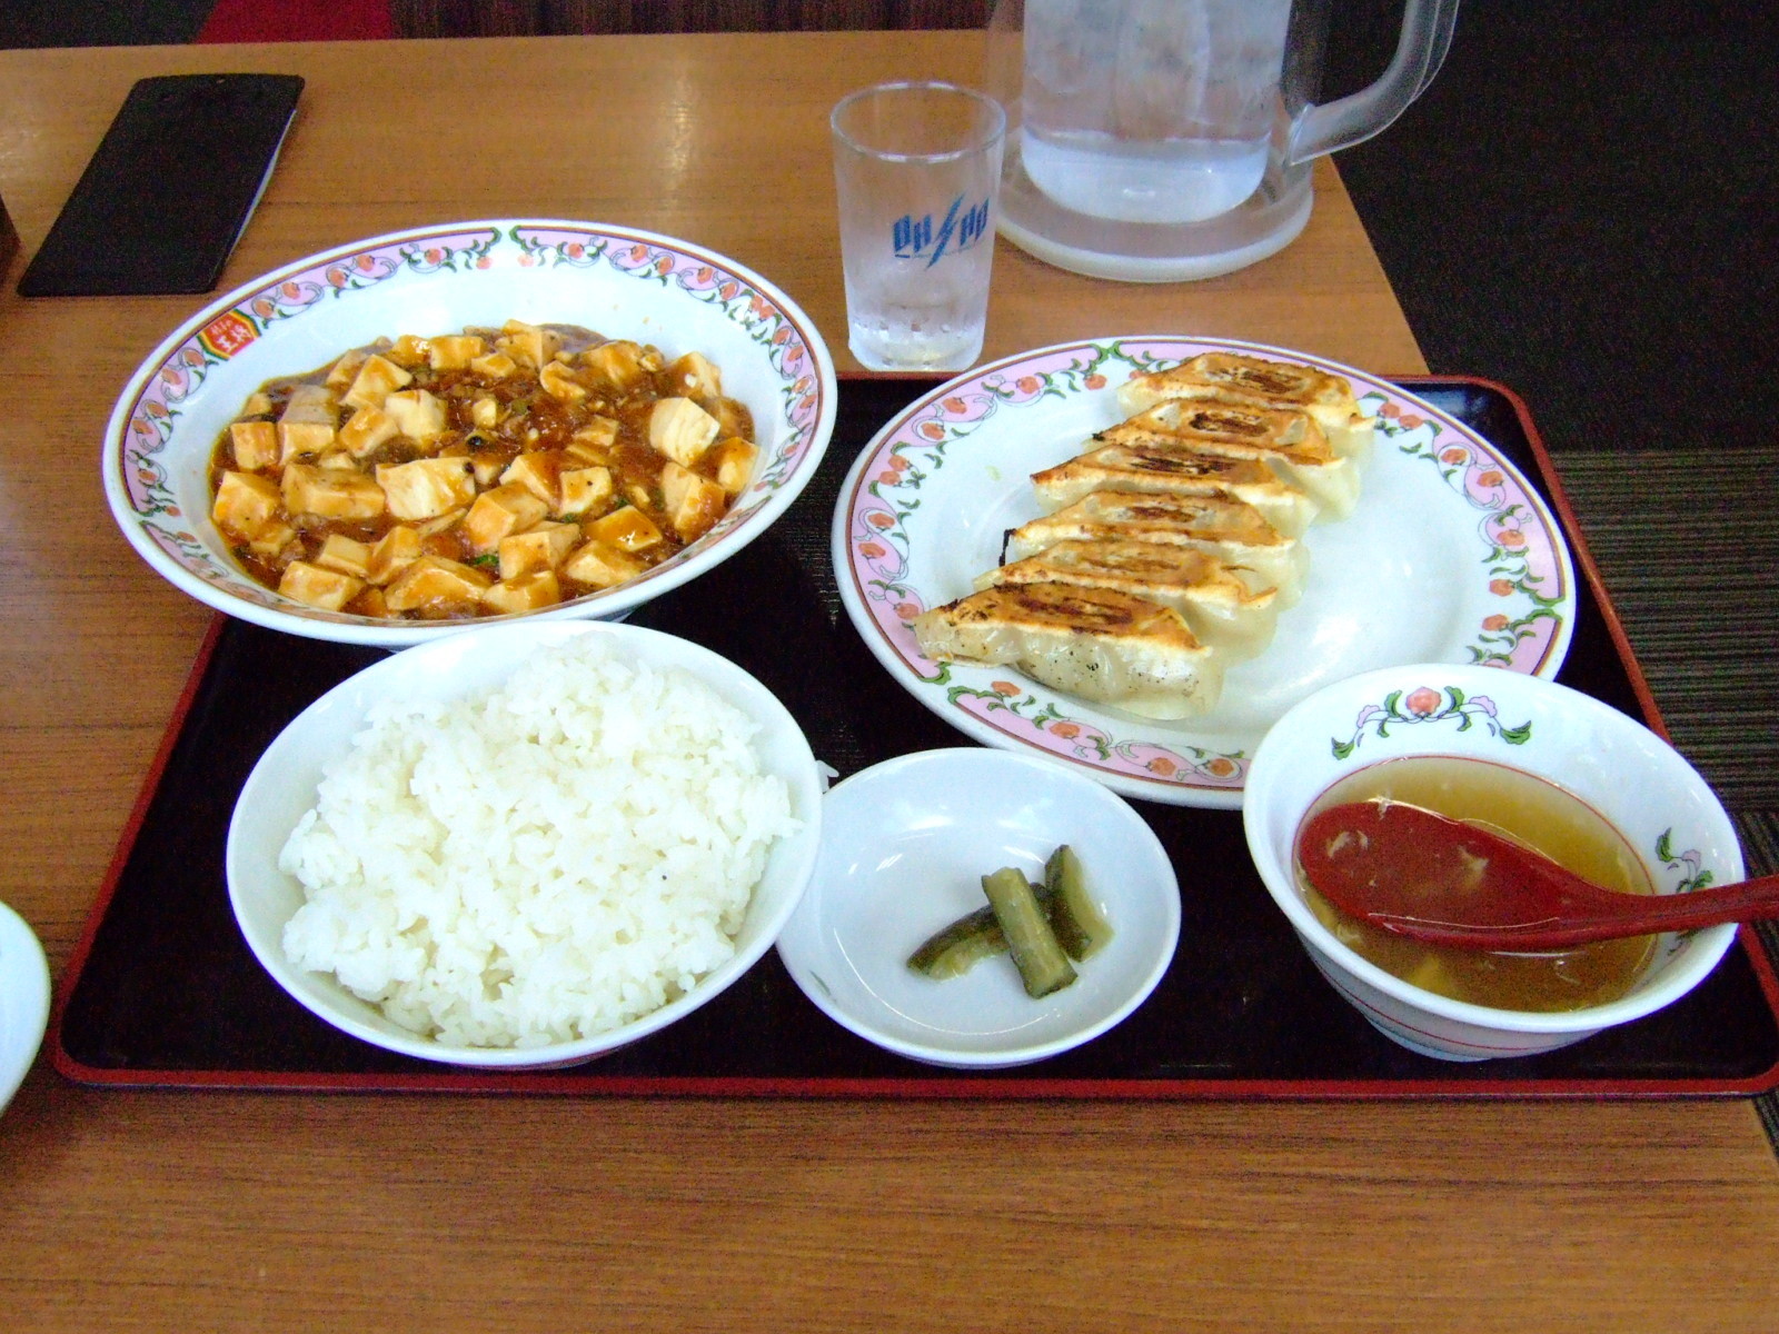
[[[737,950],[724,964],[706,973],[699,978],[692,991],[678,996],[676,1000],[662,1005],[649,1014],[644,1014],[628,1025],[607,1030],[603,1033],[594,1033],[592,1037],[575,1039],[571,1042],[551,1042],[546,1046],[534,1048],[454,1048],[443,1046],[436,1041],[420,1037],[402,1037],[382,1028],[361,1023],[359,1019],[340,1014],[338,1010],[317,1005],[302,991],[286,985],[286,976],[297,976],[304,969],[297,969],[278,948],[276,941],[260,941],[242,921],[242,889],[237,884],[233,872],[237,856],[237,829],[242,820],[242,809],[247,804],[249,795],[260,786],[260,783],[269,781],[279,761],[281,742],[286,735],[297,731],[311,713],[320,711],[333,701],[345,695],[356,694],[365,688],[366,681],[375,683],[382,676],[400,674],[404,669],[411,671],[416,665],[425,665],[434,656],[447,656],[459,651],[459,640],[468,637],[511,637],[511,639],[530,639],[528,649],[516,646],[512,651],[512,665],[518,665],[527,653],[535,653],[551,644],[559,644],[575,635],[607,635],[614,640],[626,640],[630,644],[653,644],[656,651],[665,651],[674,655],[676,663],[683,665],[685,660],[703,663],[706,671],[715,671],[717,676],[731,687],[737,687],[742,694],[749,695],[751,701],[763,706],[769,719],[761,719],[760,713],[749,710],[749,715],[761,724],[761,731],[767,727],[779,729],[786,740],[795,742],[797,761],[802,768],[801,775],[786,775],[786,783],[792,788],[792,808],[799,809],[802,818],[802,829],[792,836],[797,843],[795,861],[788,868],[790,879],[797,882],[793,893],[785,896],[785,902],[761,921],[761,930],[758,939],[754,939],[745,950]],[[418,655],[418,656],[416,656]],[[664,665],[665,660],[649,660],[651,665]],[[696,669],[694,669],[696,671]],[[706,679],[701,674],[701,679]],[[802,761],[808,759],[806,765]],[[475,1069],[546,1069],[555,1065],[575,1065],[596,1057],[608,1055],[623,1046],[637,1042],[651,1033],[667,1028],[676,1019],[701,1009],[704,1003],[715,1000],[729,985],[738,982],[760,959],[765,957],[769,950],[777,943],[779,932],[790,920],[792,912],[797,911],[797,904],[802,900],[802,893],[809,884],[809,877],[815,872],[817,854],[820,850],[822,834],[822,779],[820,768],[809,751],[809,742],[797,724],[797,719],[788,708],[761,685],[751,672],[744,667],[729,662],[713,649],[696,644],[688,639],[680,639],[678,635],[669,635],[662,630],[649,630],[646,626],[633,626],[612,621],[555,621],[555,623],[507,623],[503,626],[471,626],[459,630],[454,635],[441,635],[439,639],[422,644],[413,649],[406,649],[398,655],[382,658],[381,662],[365,667],[352,676],[345,678],[324,695],[310,703],[302,713],[286,724],[267,745],[265,752],[254,763],[253,772],[242,784],[240,799],[237,799],[235,809],[229,815],[228,840],[224,847],[224,879],[228,880],[229,909],[235,916],[235,925],[246,939],[247,948],[253,952],[260,966],[272,976],[279,989],[294,1001],[310,1010],[315,1017],[322,1019],[333,1028],[349,1033],[363,1042],[382,1048],[384,1051],[393,1051],[404,1057],[416,1057],[420,1060],[439,1062],[447,1065],[475,1067]],[[758,888],[756,888],[758,889]]]

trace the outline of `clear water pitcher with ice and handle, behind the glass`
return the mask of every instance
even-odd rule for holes
[[[1309,221],[1311,160],[1370,139],[1432,82],[1457,0],[1405,0],[1397,55],[1316,105],[1331,0],[996,0],[1007,108],[1000,229],[1124,281],[1213,277]]]

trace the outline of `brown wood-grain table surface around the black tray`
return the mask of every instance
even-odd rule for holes
[[[589,217],[783,285],[845,352],[825,141],[978,34],[0,53],[0,900],[60,971],[210,612],[116,532],[114,395],[201,297],[37,301],[23,260],[130,82],[310,80],[224,286],[415,222]],[[443,126],[448,135],[436,130]],[[1423,370],[1336,173],[1242,274],[1002,245],[987,356],[1190,331]],[[5,1329],[1770,1329],[1779,1170],[1715,1103],[797,1103],[101,1092],[0,1121]],[[1710,1277],[1706,1277],[1710,1275]]]

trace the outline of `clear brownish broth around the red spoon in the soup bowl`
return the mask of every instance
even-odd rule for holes
[[[1594,808],[1555,783],[1505,765],[1453,756],[1386,759],[1343,777],[1311,813],[1341,802],[1389,799],[1494,829],[1596,884],[1654,893],[1642,859]],[[1304,902],[1336,939],[1423,991],[1500,1010],[1582,1010],[1617,1000],[1654,955],[1653,936],[1539,953],[1491,953],[1421,944],[1348,916],[1309,888]]]

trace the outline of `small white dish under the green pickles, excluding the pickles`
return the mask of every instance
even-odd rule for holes
[[[1032,1000],[1010,959],[934,982],[907,957],[982,907],[982,877],[1041,879],[1059,843],[1080,854],[1112,941],[1076,980]],[[1160,840],[1108,788],[1050,759],[923,751],[861,770],[822,802],[822,850],[779,936],[785,968],[834,1023],[913,1060],[1023,1065],[1130,1016],[1172,962],[1179,884]]]

